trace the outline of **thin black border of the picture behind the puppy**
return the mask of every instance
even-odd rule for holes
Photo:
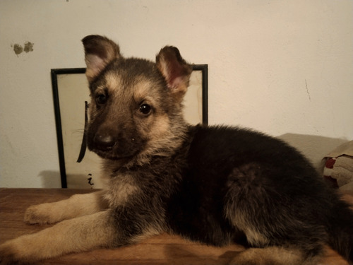
[[[194,64],[193,71],[202,72],[202,122],[208,124],[208,64]],[[72,73],[85,73],[85,68],[64,68],[64,69],[51,69],[52,76],[52,89],[53,89],[53,100],[54,100],[54,114],[56,123],[56,136],[59,153],[59,167],[61,176],[61,187],[67,188],[66,179],[66,166],[64,158],[64,141],[61,130],[61,114],[60,114],[60,102],[59,102],[59,88],[57,76],[60,74],[72,74]]]

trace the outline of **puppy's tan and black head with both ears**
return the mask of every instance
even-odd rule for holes
[[[170,155],[186,124],[181,101],[191,66],[175,47],[164,47],[156,62],[124,58],[119,46],[98,35],[83,39],[90,86],[88,148],[102,158]]]

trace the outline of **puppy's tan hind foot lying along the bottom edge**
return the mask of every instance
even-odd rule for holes
[[[315,260],[314,260],[315,259]],[[250,248],[231,261],[234,265],[313,265],[318,259],[306,259],[299,249],[282,247]]]

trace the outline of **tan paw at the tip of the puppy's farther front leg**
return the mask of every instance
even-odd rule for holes
[[[30,206],[27,211],[25,211],[24,220],[25,223],[38,223],[43,225],[45,223],[56,223],[60,218],[53,212],[51,204],[39,204]]]

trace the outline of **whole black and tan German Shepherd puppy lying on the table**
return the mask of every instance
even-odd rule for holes
[[[28,208],[57,223],[5,242],[3,263],[133,244],[167,231],[249,247],[232,264],[316,264],[330,245],[353,262],[353,212],[286,143],[249,129],[191,126],[182,101],[191,66],[175,47],[156,62],[124,58],[112,40],[83,39],[90,86],[88,148],[107,189]]]

